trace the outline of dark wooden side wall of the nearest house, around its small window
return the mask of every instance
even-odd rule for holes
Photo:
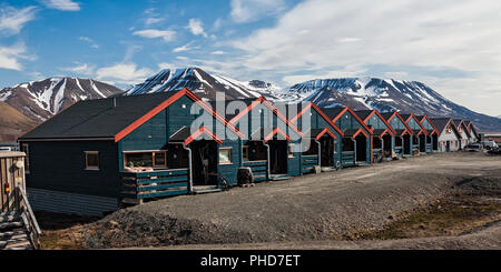
[[[118,145],[114,141],[29,142],[27,187],[117,198]],[[99,152],[99,170],[85,169],[85,151]]]

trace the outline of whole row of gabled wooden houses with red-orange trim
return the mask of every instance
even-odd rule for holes
[[[473,123],[449,118],[277,104],[205,102],[191,91],[80,101],[18,139],[37,210],[102,214],[124,202],[236,185],[381,158],[459,150]]]

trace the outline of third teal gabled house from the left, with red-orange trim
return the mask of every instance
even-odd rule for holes
[[[324,171],[342,168],[343,131],[314,103],[287,104],[287,118],[303,133],[308,149],[302,152],[303,173],[320,165]],[[306,148],[304,148],[306,149]]]

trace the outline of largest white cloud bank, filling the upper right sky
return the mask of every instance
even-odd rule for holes
[[[435,80],[443,82],[454,77],[441,74],[440,69],[461,71],[462,75],[455,78],[469,77],[479,84],[435,84],[438,91],[452,93],[454,89],[455,94],[448,98],[482,111],[493,108],[494,100],[473,102],[466,97],[489,95],[498,88],[500,12],[501,2],[489,0],[306,0],[284,13],[275,26],[233,44],[244,52],[242,63],[248,71],[293,74],[326,71],[333,66],[340,70],[347,66],[411,67],[402,71],[425,83],[429,79],[419,75],[420,70],[438,68]],[[460,92],[465,93],[464,99]]]

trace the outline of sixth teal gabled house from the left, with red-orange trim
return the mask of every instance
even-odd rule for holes
[[[381,113],[386,122],[395,131],[393,150],[399,157],[412,157],[412,130],[405,123],[405,120],[399,112],[385,112]]]

